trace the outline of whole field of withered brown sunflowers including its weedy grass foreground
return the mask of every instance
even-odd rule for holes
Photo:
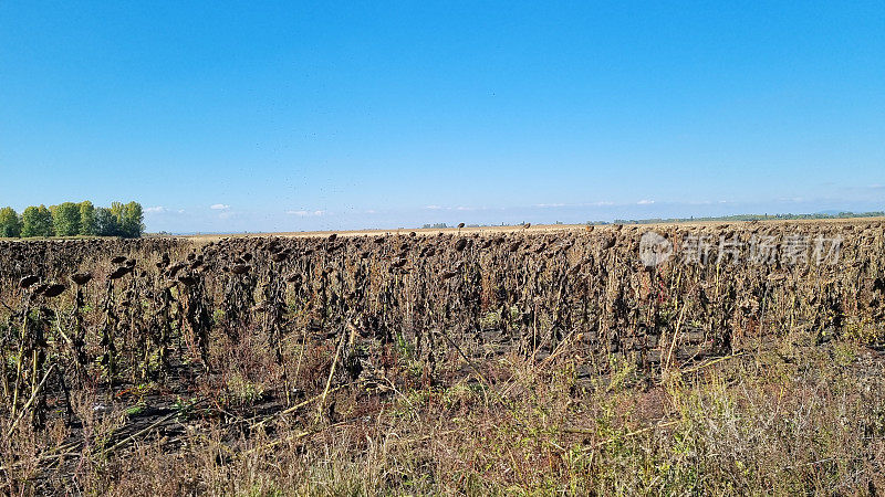
[[[875,493],[884,345],[881,220],[0,242],[0,484]]]

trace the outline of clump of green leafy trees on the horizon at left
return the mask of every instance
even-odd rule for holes
[[[21,214],[0,209],[0,236],[123,236],[136,239],[145,231],[144,211],[138,202],[113,202],[96,208],[88,200],[58,205],[27,208]]]

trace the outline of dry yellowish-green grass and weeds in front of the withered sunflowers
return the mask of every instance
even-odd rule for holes
[[[195,421],[176,450],[160,437],[110,458],[73,455],[77,470],[44,485],[124,496],[844,495],[885,484],[883,361],[855,343],[789,362],[735,357],[666,371],[659,384],[625,364],[581,381],[580,366],[562,356],[539,372],[514,360],[486,371],[514,382],[383,401],[355,388],[336,395],[354,403],[340,421],[282,416],[233,437]],[[13,452],[33,450],[22,444]],[[7,489],[27,493],[32,472]]]

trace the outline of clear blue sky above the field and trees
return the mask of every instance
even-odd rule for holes
[[[1,1],[0,204],[149,231],[885,209],[885,3]]]

